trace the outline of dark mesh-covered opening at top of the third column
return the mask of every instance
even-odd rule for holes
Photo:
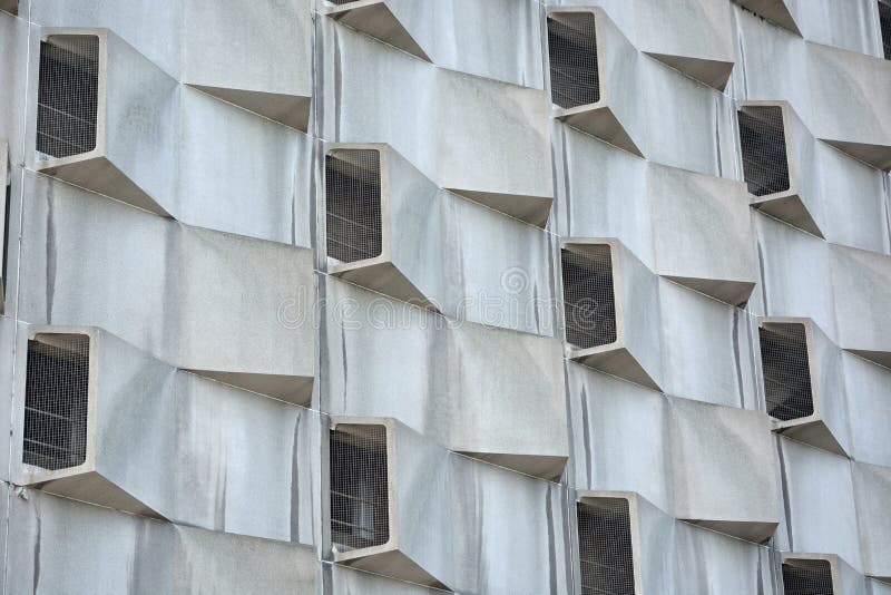
[[[597,35],[590,12],[548,17],[550,98],[562,108],[600,100]]]

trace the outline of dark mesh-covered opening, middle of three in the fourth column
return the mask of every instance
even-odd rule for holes
[[[784,421],[812,414],[814,401],[804,324],[772,323],[758,329],[758,338],[767,413]]]

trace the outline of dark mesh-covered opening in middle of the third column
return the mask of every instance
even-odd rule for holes
[[[560,251],[566,341],[580,349],[616,341],[616,301],[608,245],[586,246],[581,255]]]

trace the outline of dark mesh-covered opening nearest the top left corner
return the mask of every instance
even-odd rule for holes
[[[68,157],[96,148],[99,38],[51,36],[40,42],[37,150]]]

